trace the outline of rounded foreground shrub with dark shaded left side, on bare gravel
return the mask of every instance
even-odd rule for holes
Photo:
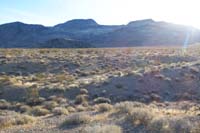
[[[74,114],[68,117],[63,125],[80,125],[87,124],[91,121],[91,117],[88,114]]]

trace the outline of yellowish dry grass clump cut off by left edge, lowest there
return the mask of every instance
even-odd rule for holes
[[[1,116],[0,117],[0,129],[14,126],[24,125],[35,122],[34,117],[28,115],[16,115],[16,116]]]

